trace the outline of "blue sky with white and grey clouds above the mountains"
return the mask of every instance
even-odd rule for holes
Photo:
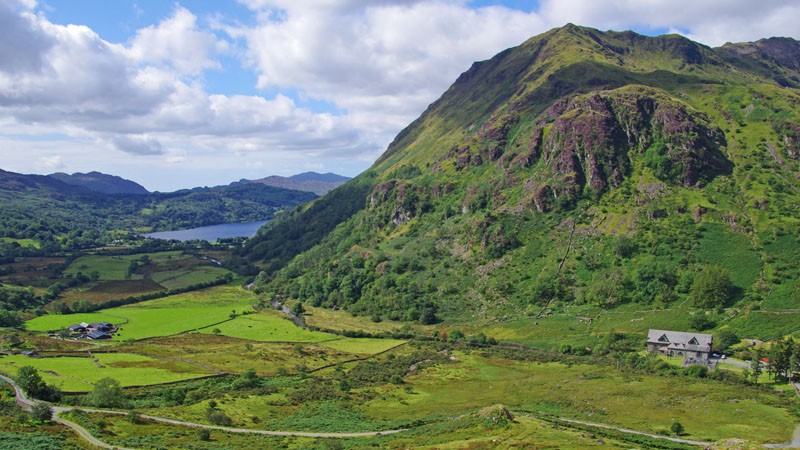
[[[472,62],[566,23],[800,39],[798,0],[0,0],[0,169],[174,191],[355,176]]]

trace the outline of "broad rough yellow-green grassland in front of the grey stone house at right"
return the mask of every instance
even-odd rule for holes
[[[635,430],[668,430],[673,421],[689,437],[716,441],[746,438],[785,442],[795,419],[763,401],[764,393],[710,380],[629,376],[607,367],[517,362],[473,355],[406,378],[396,389],[364,405],[370,417],[458,416],[503,403],[512,411],[558,415]]]

